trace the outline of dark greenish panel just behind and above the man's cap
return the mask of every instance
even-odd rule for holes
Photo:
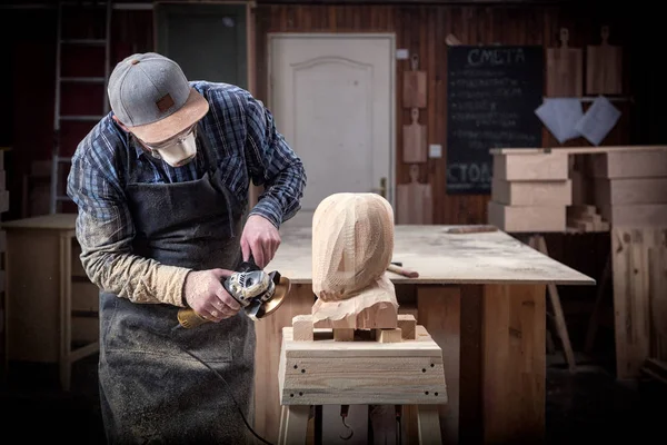
[[[245,4],[156,4],[158,52],[189,80],[248,88]]]

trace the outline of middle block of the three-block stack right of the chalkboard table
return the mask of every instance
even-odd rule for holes
[[[571,180],[508,181],[494,178],[491,199],[510,206],[568,206],[573,202]]]

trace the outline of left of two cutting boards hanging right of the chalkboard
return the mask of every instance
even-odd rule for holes
[[[581,97],[583,57],[580,48],[568,44],[569,31],[560,30],[560,47],[547,48],[547,96]]]

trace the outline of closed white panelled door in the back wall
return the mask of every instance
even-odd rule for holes
[[[272,34],[269,107],[308,184],[310,226],[334,192],[381,192],[394,205],[395,43],[391,34]]]

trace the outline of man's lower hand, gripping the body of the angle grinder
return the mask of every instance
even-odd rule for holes
[[[183,288],[188,306],[215,323],[236,315],[241,305],[222,286],[222,279],[231,274],[231,270],[226,269],[190,271]]]

